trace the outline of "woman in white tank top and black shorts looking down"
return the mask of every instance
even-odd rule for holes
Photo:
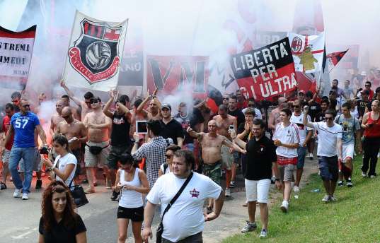
[[[117,208],[118,242],[125,243],[130,219],[134,242],[142,243],[141,229],[144,220],[142,194],[149,192],[148,179],[145,172],[134,165],[131,155],[121,155],[119,162],[120,169],[117,170],[115,182],[115,191],[121,191]]]

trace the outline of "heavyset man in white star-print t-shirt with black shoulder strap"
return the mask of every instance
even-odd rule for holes
[[[161,212],[165,211],[190,173],[193,173],[190,182],[163,217],[162,242],[202,242],[205,221],[214,220],[219,216],[224,193],[209,177],[192,172],[194,164],[194,155],[190,150],[176,151],[173,157],[173,172],[159,177],[149,191],[144,211],[144,242],[148,242],[149,237],[152,237],[151,223],[156,205],[161,203]],[[203,215],[203,205],[207,198],[214,198],[214,211]]]

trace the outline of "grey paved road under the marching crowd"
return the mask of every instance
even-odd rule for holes
[[[316,172],[316,161],[306,159],[304,178],[311,172]],[[100,178],[100,177],[98,177]],[[304,180],[305,182],[305,180]],[[44,185],[48,184],[44,179]],[[13,184],[8,182],[7,190],[0,191],[0,243],[30,243],[37,242],[38,222],[41,216],[41,191],[32,191],[28,201],[13,198]],[[222,182],[224,184],[224,182]],[[33,179],[33,187],[35,179]],[[86,206],[79,208],[79,214],[87,227],[87,238],[90,243],[117,242],[116,209],[117,202],[110,201],[110,190],[104,185],[96,187],[96,194],[88,195]],[[203,238],[205,243],[221,242],[229,235],[240,232],[248,220],[247,209],[241,205],[246,201],[243,188],[243,178],[238,175],[238,186],[233,190],[232,199],[226,200],[221,215],[216,220],[205,225]],[[270,198],[272,201],[279,195],[274,188]],[[278,206],[278,205],[273,205]],[[257,212],[258,213],[258,212]],[[159,212],[156,212],[159,215]],[[258,217],[258,214],[256,215]],[[153,231],[159,223],[159,217],[154,218]],[[127,242],[134,242],[132,232],[128,230]],[[151,242],[156,242],[153,239]]]

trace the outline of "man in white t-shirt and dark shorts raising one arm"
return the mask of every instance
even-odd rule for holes
[[[304,107],[304,125],[318,131],[318,165],[321,172],[326,196],[322,201],[336,201],[334,196],[338,181],[338,162],[342,162],[342,126],[334,122],[335,111],[328,109],[325,112],[326,122],[309,122],[306,119],[309,107]]]

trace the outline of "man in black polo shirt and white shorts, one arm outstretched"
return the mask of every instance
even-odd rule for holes
[[[257,201],[260,205],[261,223],[263,225],[260,237],[266,237],[268,220],[267,196],[270,189],[270,178],[272,177],[272,165],[274,167],[276,176],[275,183],[278,189],[281,189],[280,179],[278,179],[280,177],[280,171],[277,166],[276,148],[273,141],[265,136],[265,123],[263,120],[256,119],[253,121],[251,134],[253,134],[254,138],[249,140],[248,143],[241,141],[238,137],[234,138],[234,143],[241,148],[246,148],[247,161],[249,161],[247,163],[246,172],[244,172],[249,221],[241,232],[255,230]],[[235,136],[235,134],[231,136]]]

